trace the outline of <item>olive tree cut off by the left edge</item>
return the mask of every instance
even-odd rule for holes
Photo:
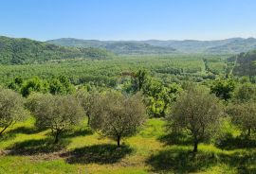
[[[0,135],[26,116],[23,97],[11,90],[0,89]]]

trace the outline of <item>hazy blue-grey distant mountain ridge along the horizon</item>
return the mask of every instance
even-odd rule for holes
[[[72,47],[105,48],[118,54],[127,53],[206,53],[206,54],[238,54],[256,49],[255,38],[231,38],[216,41],[98,41],[62,38],[47,43]]]

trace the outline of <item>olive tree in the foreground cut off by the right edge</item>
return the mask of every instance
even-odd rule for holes
[[[256,103],[250,101],[229,105],[227,113],[229,113],[233,124],[244,132],[247,131],[248,137],[251,130],[256,129]]]

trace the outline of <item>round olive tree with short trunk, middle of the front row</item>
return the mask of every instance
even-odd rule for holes
[[[139,95],[122,96],[108,92],[95,105],[92,129],[116,140],[118,147],[121,138],[134,135],[144,123],[146,110]]]

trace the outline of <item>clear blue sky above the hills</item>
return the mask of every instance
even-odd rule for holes
[[[0,35],[40,41],[256,37],[255,0],[0,0]]]

